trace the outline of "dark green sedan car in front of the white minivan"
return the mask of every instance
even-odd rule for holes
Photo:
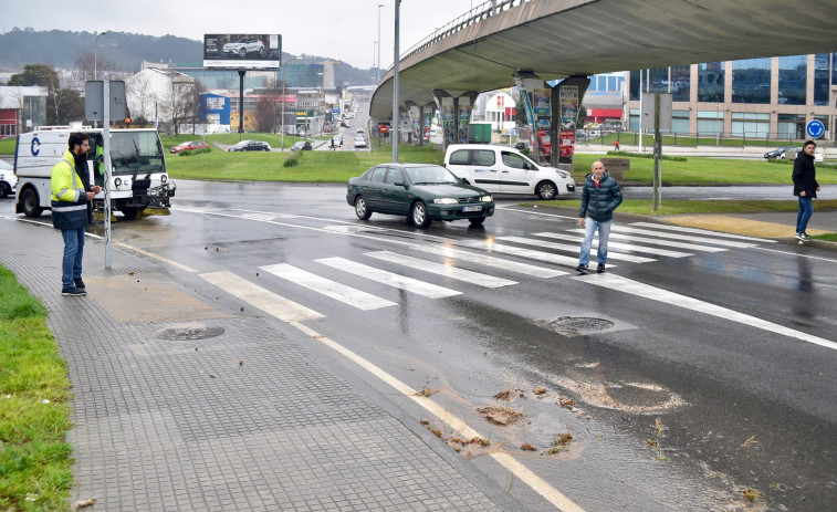
[[[479,226],[494,215],[494,199],[431,164],[381,164],[348,180],[346,201],[358,219],[373,212],[408,216],[418,228],[433,220],[468,219]]]

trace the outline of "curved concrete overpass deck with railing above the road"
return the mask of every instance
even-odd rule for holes
[[[553,80],[834,51],[837,0],[493,0],[401,55],[399,104],[508,87],[524,71]],[[391,67],[370,116],[393,117]]]

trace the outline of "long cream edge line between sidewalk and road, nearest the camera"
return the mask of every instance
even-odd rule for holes
[[[480,438],[480,439],[485,439],[483,435],[481,435],[473,428],[469,427],[468,424],[465,424],[463,420],[461,420],[457,416],[451,415],[448,410],[440,407],[430,398],[421,396],[418,391],[412,389],[410,386],[398,380],[395,376],[389,375],[388,373],[384,372],[384,369],[374,365],[366,358],[355,354],[354,352],[349,351],[343,345],[329,339],[327,336],[318,334],[316,331],[308,328],[305,325],[300,324],[299,322],[291,322],[291,325],[299,328],[303,333],[307,334],[313,339],[316,339],[323,343],[324,345],[326,345],[327,347],[332,348],[333,351],[342,354],[347,359],[352,361],[359,367],[369,372],[372,375],[374,375],[375,377],[377,377],[385,384],[391,386],[393,388],[401,393],[407,398],[410,398],[417,405],[421,406],[425,410],[436,416],[442,422],[444,422],[454,431],[457,431],[460,436],[468,439],[474,438],[474,437]],[[538,477],[534,471],[530,470],[524,464],[515,460],[512,456],[508,453],[491,453],[489,457],[498,461],[501,466],[508,469],[513,476],[517,477],[523,483],[529,485],[533,491],[541,494],[545,500],[547,500],[550,503],[552,503],[555,508],[557,508],[562,512],[584,512],[584,509],[578,506],[573,500],[564,495],[561,491],[552,487],[548,482],[546,482],[544,479]]]

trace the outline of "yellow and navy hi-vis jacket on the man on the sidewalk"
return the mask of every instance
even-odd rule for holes
[[[52,224],[56,229],[79,229],[87,226],[87,200],[84,182],[75,173],[72,151],[52,167]],[[84,197],[84,200],[79,200]]]

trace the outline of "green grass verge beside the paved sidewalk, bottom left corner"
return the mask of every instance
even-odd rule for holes
[[[46,311],[0,265],[0,510],[66,510],[70,382]]]

